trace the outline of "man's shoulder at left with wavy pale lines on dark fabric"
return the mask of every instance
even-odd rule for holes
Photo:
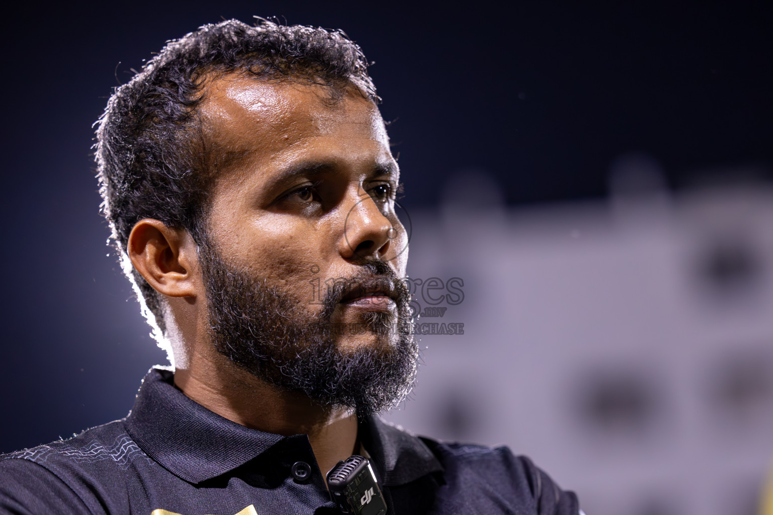
[[[0,513],[100,513],[125,473],[148,459],[119,420],[67,440],[0,455]],[[64,506],[57,503],[66,501]]]

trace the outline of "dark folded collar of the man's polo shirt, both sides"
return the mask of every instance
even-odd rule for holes
[[[170,371],[148,371],[126,419],[126,430],[145,454],[175,476],[200,483],[243,465],[280,442],[308,446],[311,451],[306,435],[284,437],[257,431],[210,412],[176,388],[173,378]],[[378,417],[360,423],[359,438],[373,456],[385,486],[410,483],[443,469],[421,439]]]

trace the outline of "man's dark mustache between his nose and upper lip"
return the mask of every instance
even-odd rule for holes
[[[394,269],[380,259],[368,259],[357,263],[359,273],[349,277],[335,277],[325,281],[327,293],[322,299],[321,321],[330,321],[335,309],[343,300],[377,292],[389,296],[404,310],[410,303],[410,292]]]

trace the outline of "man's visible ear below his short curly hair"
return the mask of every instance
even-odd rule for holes
[[[126,252],[153,289],[166,296],[195,297],[199,259],[196,242],[185,229],[172,229],[155,219],[137,222]]]

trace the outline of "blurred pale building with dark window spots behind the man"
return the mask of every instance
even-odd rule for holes
[[[773,465],[773,188],[628,179],[611,202],[507,210],[461,177],[411,212],[410,276],[440,280],[415,298],[447,307],[419,322],[464,334],[421,337],[387,419],[506,444],[589,515],[751,515]],[[454,277],[461,303],[441,298]]]

